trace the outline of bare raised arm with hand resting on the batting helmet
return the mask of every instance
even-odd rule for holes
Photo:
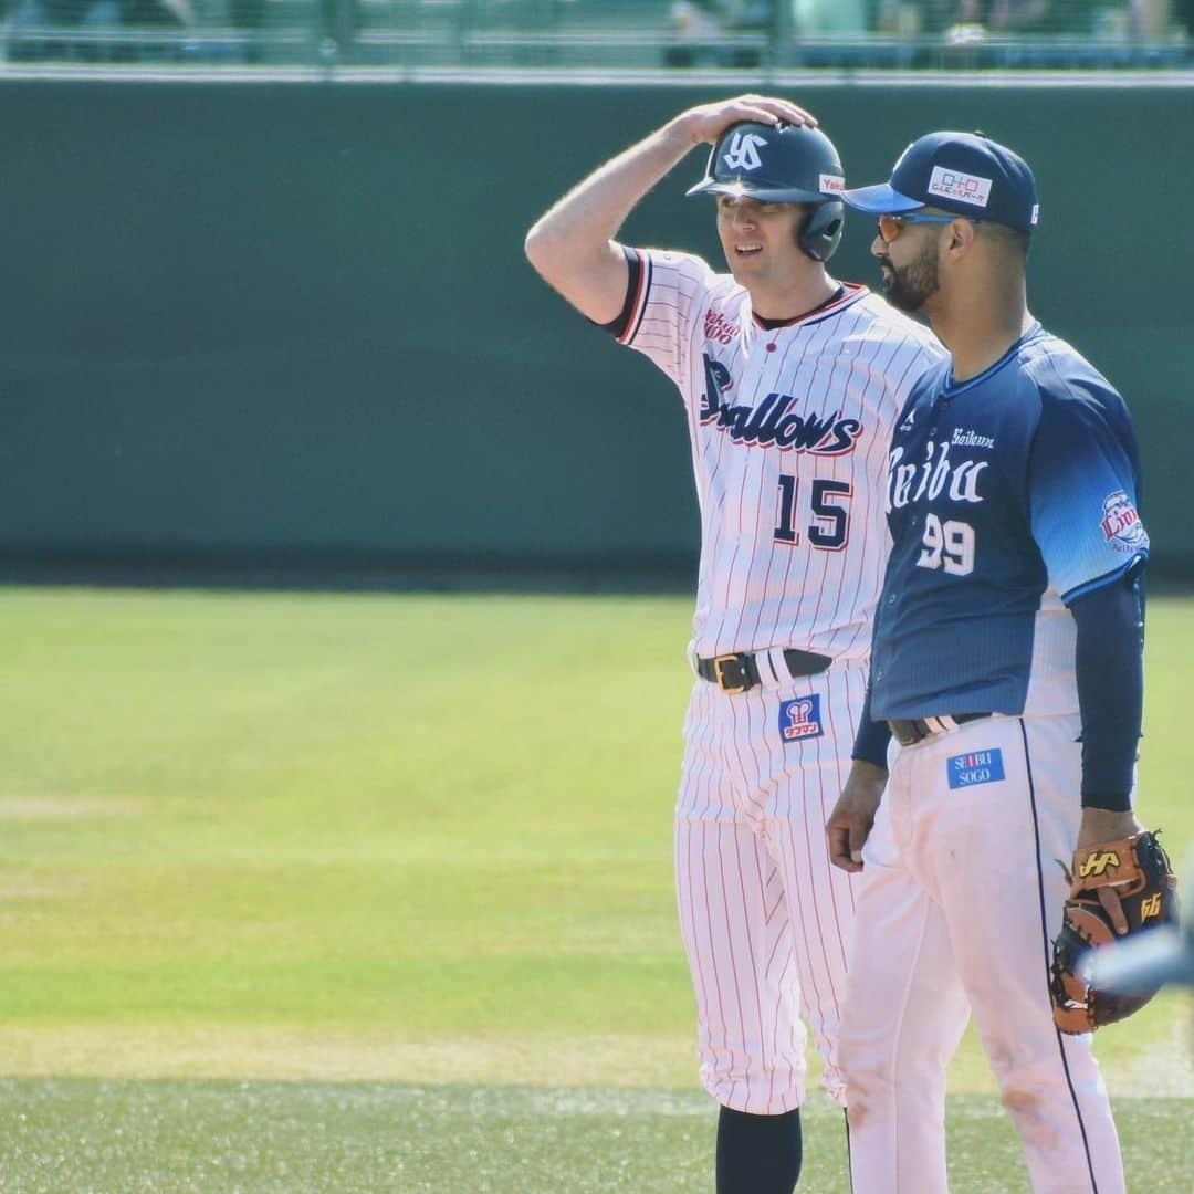
[[[740,121],[814,124],[782,99],[740,96],[688,109],[574,186],[527,234],[527,257],[540,276],[598,324],[617,318],[627,265],[615,242],[640,199],[702,142]]]

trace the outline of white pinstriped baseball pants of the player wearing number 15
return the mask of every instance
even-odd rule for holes
[[[836,1066],[853,878],[829,862],[825,820],[850,768],[867,667],[839,663],[727,695],[697,681],[676,807],[681,931],[697,1002],[701,1082],[720,1103],[778,1115],[805,1098],[801,1015]],[[784,741],[786,701],[817,697],[821,733]],[[807,708],[807,706],[806,706]]]

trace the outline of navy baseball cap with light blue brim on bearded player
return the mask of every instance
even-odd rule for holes
[[[1032,232],[1040,215],[1028,162],[981,133],[925,134],[900,154],[890,183],[841,197],[875,216],[933,207],[1021,232]]]

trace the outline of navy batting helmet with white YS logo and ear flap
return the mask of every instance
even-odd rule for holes
[[[812,203],[800,247],[827,261],[842,239],[842,159],[820,129],[801,124],[732,124],[718,137],[704,178],[688,195],[731,195],[762,203]]]

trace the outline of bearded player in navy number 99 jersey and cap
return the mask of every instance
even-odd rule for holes
[[[947,1188],[946,1064],[973,1011],[1033,1189],[1120,1194],[1091,1038],[1054,1024],[1050,948],[1059,862],[1141,829],[1131,419],[1027,308],[1038,199],[1015,153],[933,133],[844,198],[878,216],[888,301],[950,352],[896,426],[867,710],[829,820],[833,861],[862,872],[839,1044],[854,1188]]]

